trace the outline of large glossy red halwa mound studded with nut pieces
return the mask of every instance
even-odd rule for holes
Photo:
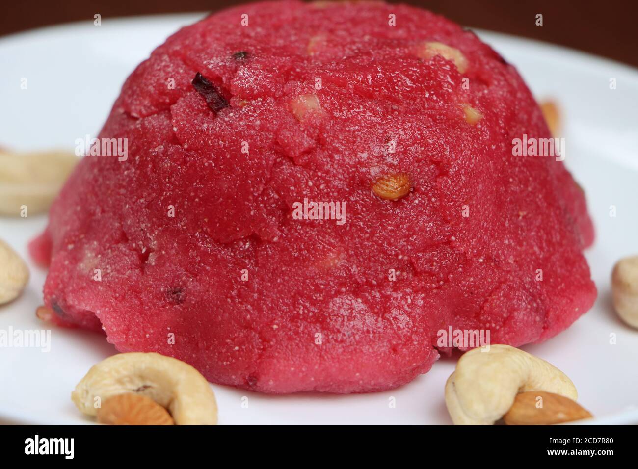
[[[523,135],[550,137],[516,70],[429,11],[221,11],[126,80],[100,134],[126,160],[86,156],[31,246],[45,302],[274,393],[407,383],[449,326],[543,341],[595,300],[593,228],[561,161],[513,156]]]

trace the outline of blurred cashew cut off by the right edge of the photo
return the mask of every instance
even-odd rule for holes
[[[638,329],[638,256],[616,262],[611,274],[611,293],[618,316]]]

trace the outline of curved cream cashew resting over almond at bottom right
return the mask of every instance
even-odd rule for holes
[[[547,391],[576,400],[574,383],[560,369],[509,345],[474,348],[445,383],[445,405],[455,425],[493,425],[519,392]]]

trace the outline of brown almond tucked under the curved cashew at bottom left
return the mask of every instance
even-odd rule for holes
[[[98,422],[108,425],[174,425],[170,413],[153,399],[127,392],[106,399]]]

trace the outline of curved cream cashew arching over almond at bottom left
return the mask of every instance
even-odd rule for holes
[[[167,408],[177,425],[217,424],[215,395],[204,376],[187,363],[155,353],[108,357],[89,369],[71,400],[80,412],[96,415],[98,403],[125,392]]]

